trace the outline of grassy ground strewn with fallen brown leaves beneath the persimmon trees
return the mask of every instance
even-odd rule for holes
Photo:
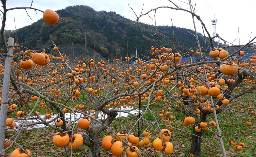
[[[239,109],[242,108],[243,111],[250,112],[247,106],[254,103],[254,100],[248,100],[248,97],[254,97],[254,94],[249,94],[247,96],[242,96],[238,98],[236,102],[231,102],[230,107],[232,109]],[[143,105],[143,104],[142,104]],[[157,106],[150,106],[150,109],[155,113],[159,114],[160,111],[157,109]],[[160,109],[161,110],[161,109]],[[173,113],[171,113],[173,114]],[[144,116],[145,119],[150,121],[154,121],[154,117],[150,113],[146,113]],[[159,117],[157,117],[159,118]],[[170,124],[176,128],[183,129],[184,127],[181,125],[181,121],[184,118],[184,115],[181,113],[175,114],[175,119],[170,120]],[[114,122],[111,124],[111,128],[115,131],[119,132],[128,132],[134,125],[137,117],[122,117],[116,118]],[[238,113],[234,111],[224,110],[221,114],[218,114],[219,125],[222,131],[222,139],[225,145],[226,154],[227,156],[256,156],[255,151],[253,152],[253,148],[256,145],[255,138],[255,125],[249,127],[245,124],[246,121],[251,121],[255,124],[255,116],[246,115],[245,113]],[[214,117],[212,114],[208,115],[207,122],[214,121]],[[160,122],[160,124],[164,124],[164,122]],[[142,131],[145,130],[149,123],[142,123],[139,124],[141,134]],[[161,129],[165,128],[164,126],[160,126]],[[190,126],[184,131],[189,133],[192,132],[193,127]],[[153,142],[153,139],[158,136],[157,126],[152,126],[149,128],[152,133],[152,139],[150,143]],[[155,130],[155,131],[154,131]],[[220,143],[217,137],[217,129],[212,128],[212,131],[208,130],[203,133],[202,138],[211,142],[208,143],[205,140],[201,142],[201,150],[202,153],[198,155],[198,157],[208,157],[208,156],[223,156],[221,152],[217,150],[221,150]],[[8,131],[8,134],[15,133],[15,131]],[[17,143],[21,146],[26,147],[32,152],[32,156],[44,156],[44,157],[57,157],[57,156],[66,156],[65,150],[63,148],[58,148],[54,146],[52,142],[53,134],[55,133],[54,130],[49,129],[48,127],[44,127],[41,129],[33,129],[33,130],[24,130],[22,131],[21,135],[19,136]],[[138,134],[138,125],[134,127],[131,133]],[[191,145],[191,135],[187,133],[183,133],[178,130],[171,131],[172,137],[170,142],[174,145],[174,151],[169,156],[189,156],[189,150]],[[109,130],[102,132],[100,139],[102,139],[105,135],[112,135]],[[143,137],[143,135],[142,135]],[[235,151],[233,146],[230,144],[230,141],[235,140],[237,143],[243,142],[245,143],[246,147],[243,148],[242,151]],[[214,145],[214,146],[213,146]],[[124,146],[125,150],[127,146]],[[9,156],[10,153],[15,149],[18,148],[16,144],[11,147],[9,150],[6,151],[5,156]],[[143,156],[164,156],[161,152],[155,151],[154,148],[144,148],[139,147],[141,150],[141,154]],[[67,152],[70,156],[70,150],[67,148]],[[88,156],[89,148],[83,145],[82,147],[78,148],[77,150],[73,150],[73,156],[82,157]],[[111,151],[106,151],[102,148],[101,156],[113,156]],[[125,155],[124,155],[125,156]]]

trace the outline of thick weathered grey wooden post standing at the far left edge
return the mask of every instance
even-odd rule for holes
[[[8,46],[14,45],[14,39],[9,37]],[[7,56],[5,57],[5,72],[3,75],[3,88],[2,88],[2,101],[0,110],[0,153],[4,149],[5,141],[5,126],[8,111],[8,94],[9,94],[9,83],[11,75],[11,61],[13,60],[13,47],[7,49]],[[4,156],[4,152],[0,154],[0,157]]]

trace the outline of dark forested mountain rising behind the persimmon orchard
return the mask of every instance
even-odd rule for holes
[[[139,31],[137,23],[134,25],[134,21],[112,11],[95,11],[89,6],[77,5],[56,12],[60,18],[69,22],[59,20],[59,27],[57,24],[48,25],[43,19],[40,19],[30,26],[17,30],[19,44],[31,49],[42,50],[53,47],[52,39],[67,55],[72,56],[74,49],[76,56],[83,56],[87,46],[86,53],[94,55],[95,49],[102,57],[107,58],[113,58],[113,55],[119,57],[121,54],[122,56],[135,55],[135,47],[142,56],[150,55],[151,46],[161,46],[162,44],[168,48],[173,47],[173,30],[170,26],[157,27],[158,31],[165,36],[161,34],[152,36],[156,32],[155,27],[140,23],[146,40]],[[188,31],[194,33],[193,30],[176,26],[173,29],[174,36],[177,37],[176,52],[182,54],[190,51],[191,47],[197,49],[195,37],[188,33]],[[14,37],[16,33],[9,31],[8,36]],[[205,47],[202,34],[199,34],[199,41]],[[206,45],[210,45],[209,38],[206,40]]]

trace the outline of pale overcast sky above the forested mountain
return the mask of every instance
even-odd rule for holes
[[[211,35],[213,32],[211,20],[214,19],[215,14],[215,19],[217,19],[216,33],[228,42],[234,41],[234,44],[239,44],[238,37],[240,36],[240,44],[245,44],[250,38],[256,36],[256,22],[254,18],[256,0],[244,0],[243,2],[236,2],[234,0],[191,1],[193,5],[196,3],[195,12],[201,17]],[[29,7],[31,2],[32,0],[7,0],[6,6],[7,8]],[[186,3],[178,0],[173,0],[173,2],[178,6],[189,10],[189,5],[186,4],[188,2],[187,0],[184,0]],[[125,16],[125,18],[136,20],[136,16],[128,6],[128,3],[137,15],[141,13],[143,4],[144,7],[142,13],[146,13],[158,6],[174,7],[168,0],[34,0],[32,7],[44,11],[46,9],[59,10],[74,5],[87,5],[96,11],[115,11],[117,14]],[[42,18],[43,15],[41,12],[35,14],[34,10],[27,10],[27,12],[33,21],[30,20],[24,9],[8,11],[5,29],[15,30],[14,16],[16,28],[18,29],[36,22]],[[149,15],[154,19],[154,12]],[[157,25],[171,26],[171,18],[173,19],[174,26],[194,29],[192,18],[189,13],[171,9],[159,9],[156,11]],[[150,19],[149,16],[143,16],[139,21],[147,24],[155,24],[155,21],[152,19]],[[200,22],[196,18],[195,20],[197,31],[203,33]]]

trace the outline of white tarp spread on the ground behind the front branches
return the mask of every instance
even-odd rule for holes
[[[133,109],[133,107],[131,106],[127,106],[126,108],[123,108],[123,106],[121,107],[121,110],[125,110],[125,111],[129,111]],[[138,109],[135,109],[135,110],[132,110],[130,111],[130,113],[132,114],[137,114],[138,113]],[[93,114],[91,114],[93,115]],[[129,114],[127,113],[123,113],[123,112],[118,112],[118,115],[116,118],[118,118],[119,116],[120,117],[127,117]],[[50,119],[46,119],[44,115],[40,115],[40,117],[45,120],[46,122],[47,121],[51,121],[53,120],[54,117],[58,116],[57,114],[54,114],[54,116],[52,115],[52,117]],[[84,117],[81,113],[75,113],[75,115],[73,113],[66,113],[65,114],[65,119],[67,121],[67,123],[73,123],[74,122],[74,118],[78,119],[80,117]],[[106,114],[102,114],[102,112],[99,113],[99,116],[98,116],[98,119],[99,120],[103,120],[103,119],[106,119],[107,118],[107,115]],[[21,118],[17,118],[17,119],[13,119],[13,122],[15,122],[17,124],[17,127],[20,128],[20,125],[22,125],[22,123],[25,121],[25,119],[23,117]],[[40,122],[39,119],[33,119],[33,117],[30,117],[30,119],[27,120],[27,124],[30,124],[30,123],[35,123],[35,122]],[[51,122],[50,123],[51,125],[54,125],[54,122]],[[40,128],[40,127],[45,127],[44,124],[35,124],[35,125],[32,125],[32,126],[24,126],[23,129],[33,129],[33,128]]]

